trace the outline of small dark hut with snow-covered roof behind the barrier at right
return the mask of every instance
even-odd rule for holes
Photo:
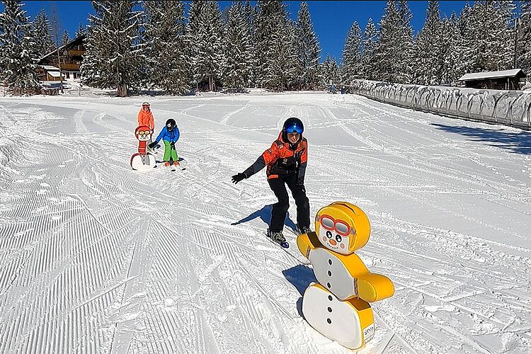
[[[525,78],[522,69],[501,70],[499,72],[474,72],[464,74],[459,81],[472,89],[520,90],[520,80]]]

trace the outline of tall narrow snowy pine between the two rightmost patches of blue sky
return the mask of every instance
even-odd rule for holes
[[[421,85],[440,84],[442,76],[441,38],[442,26],[439,16],[439,1],[428,1],[426,22],[415,42],[416,65],[413,83]]]

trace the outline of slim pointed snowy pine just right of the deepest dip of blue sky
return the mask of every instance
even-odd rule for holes
[[[353,79],[360,79],[361,49],[361,28],[358,22],[354,21],[348,30],[345,47],[343,47],[340,74],[343,84],[350,85]]]

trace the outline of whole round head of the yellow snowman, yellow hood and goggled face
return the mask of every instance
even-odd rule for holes
[[[317,212],[315,232],[326,249],[348,255],[367,244],[370,222],[359,207],[349,202],[333,202]]]

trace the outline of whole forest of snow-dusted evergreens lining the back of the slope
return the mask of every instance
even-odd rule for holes
[[[30,93],[39,86],[38,59],[71,38],[45,11],[30,21],[20,1],[2,2],[0,79],[13,94]],[[306,2],[296,21],[275,0],[234,1],[226,11],[217,1],[194,0],[188,13],[184,1],[92,4],[82,79],[120,96],[142,89],[318,90],[353,79],[438,85],[467,72],[531,71],[531,1],[474,1],[441,18],[438,1],[430,0],[423,28],[413,33],[408,1],[389,0],[379,23],[369,18],[364,30],[353,23],[339,64],[329,55],[321,61]],[[74,37],[83,32],[80,24]]]

